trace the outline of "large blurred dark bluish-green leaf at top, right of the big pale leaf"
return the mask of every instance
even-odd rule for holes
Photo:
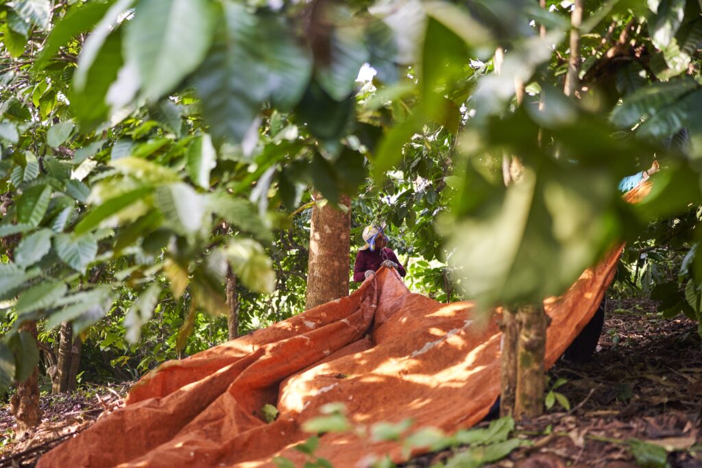
[[[223,27],[194,83],[214,140],[241,142],[265,100],[282,109],[296,105],[312,65],[279,15],[254,14],[231,1],[222,7]]]

